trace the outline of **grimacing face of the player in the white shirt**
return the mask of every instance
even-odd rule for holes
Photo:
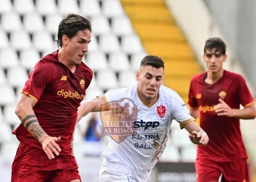
[[[144,99],[150,101],[157,97],[159,88],[163,83],[163,68],[144,66],[137,72],[138,88]]]

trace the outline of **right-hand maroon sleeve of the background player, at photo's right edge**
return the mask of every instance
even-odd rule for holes
[[[245,79],[239,75],[237,81],[238,99],[240,104],[242,104],[244,107],[250,106],[254,102],[254,99]]]

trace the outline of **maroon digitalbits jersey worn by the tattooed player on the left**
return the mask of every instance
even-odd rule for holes
[[[33,107],[40,126],[49,136],[61,137],[60,154],[71,154],[77,108],[85,96],[93,72],[83,62],[72,73],[58,60],[58,51],[43,57],[29,74],[22,90],[34,98]],[[27,129],[20,124],[13,132],[25,145],[42,148]]]

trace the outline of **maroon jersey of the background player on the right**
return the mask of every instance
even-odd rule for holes
[[[191,79],[189,89],[190,107],[199,107],[200,126],[207,132],[209,143],[197,147],[197,158],[232,161],[247,158],[240,121],[236,118],[218,116],[214,106],[222,98],[230,108],[239,109],[253,103],[253,97],[244,78],[224,70],[223,76],[214,84],[205,83],[206,72]]]

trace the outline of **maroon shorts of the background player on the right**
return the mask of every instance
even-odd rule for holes
[[[196,160],[197,182],[249,182],[246,159],[232,162],[216,162],[207,159]]]

